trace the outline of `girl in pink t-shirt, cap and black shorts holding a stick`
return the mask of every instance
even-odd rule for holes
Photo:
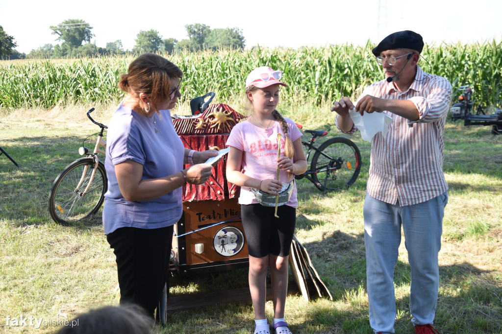
[[[249,118],[236,124],[226,144],[228,153],[227,180],[241,187],[242,225],[249,251],[249,289],[255,309],[255,334],[270,334],[265,315],[266,278],[270,267],[276,334],[291,334],[284,321],[284,306],[288,288],[288,257],[295,232],[296,185],[285,205],[263,206],[251,188],[271,195],[282,190],[283,183],[307,170],[301,132],[296,124],[276,110],[279,103],[281,71],[263,66],[254,69],[246,79],[246,96],[252,106]],[[277,134],[281,134],[281,156],[277,158]],[[280,168],[277,180],[277,166]]]

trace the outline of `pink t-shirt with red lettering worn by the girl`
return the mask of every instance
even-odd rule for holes
[[[289,118],[284,118],[288,124],[288,136],[291,141],[302,136],[302,133]],[[275,121],[268,129],[262,129],[249,121],[237,123],[230,132],[226,141],[227,146],[235,147],[243,152],[242,154],[242,173],[258,180],[277,179],[277,133],[281,137],[281,156],[284,156],[284,131],[281,123]],[[294,162],[294,161],[293,161]],[[294,176],[291,175],[288,180],[288,173],[281,170],[279,181],[282,183],[290,182]],[[298,207],[296,196],[296,183],[289,202],[290,207]],[[257,204],[259,203],[255,195],[247,187],[240,188],[239,204]]]

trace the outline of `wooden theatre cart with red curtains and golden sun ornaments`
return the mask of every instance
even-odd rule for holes
[[[186,148],[225,148],[232,127],[246,117],[226,104],[173,119]],[[183,216],[174,226],[171,270],[181,277],[248,266],[247,244],[237,203],[239,189],[226,180],[226,155],[203,185],[183,189]]]

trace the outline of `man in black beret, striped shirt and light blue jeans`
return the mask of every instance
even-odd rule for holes
[[[331,111],[340,131],[357,128],[349,109],[363,119],[372,112],[393,118],[386,135],[371,139],[369,178],[364,201],[364,244],[369,323],[374,332],[394,333],[394,267],[401,228],[411,268],[410,311],[416,333],[432,327],[439,289],[438,253],[448,185],[443,175],[443,132],[451,84],[424,73],[419,65],[422,36],[393,33],[372,53],[386,79],[366,87],[354,105],[343,97]]]

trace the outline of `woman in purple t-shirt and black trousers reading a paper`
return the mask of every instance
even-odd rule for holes
[[[135,303],[153,316],[168,279],[173,225],[182,214],[181,187],[202,184],[215,151],[188,150],[170,109],[180,97],[181,70],[143,54],[120,77],[127,93],[107,133],[103,225],[116,256],[120,303]],[[183,164],[194,164],[183,170]]]

